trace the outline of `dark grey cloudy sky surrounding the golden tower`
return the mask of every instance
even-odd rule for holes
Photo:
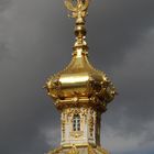
[[[42,89],[70,61],[74,21],[63,0],[0,0],[0,154],[59,144],[59,114]],[[154,154],[154,0],[92,0],[90,62],[119,96],[102,116],[112,154]]]

